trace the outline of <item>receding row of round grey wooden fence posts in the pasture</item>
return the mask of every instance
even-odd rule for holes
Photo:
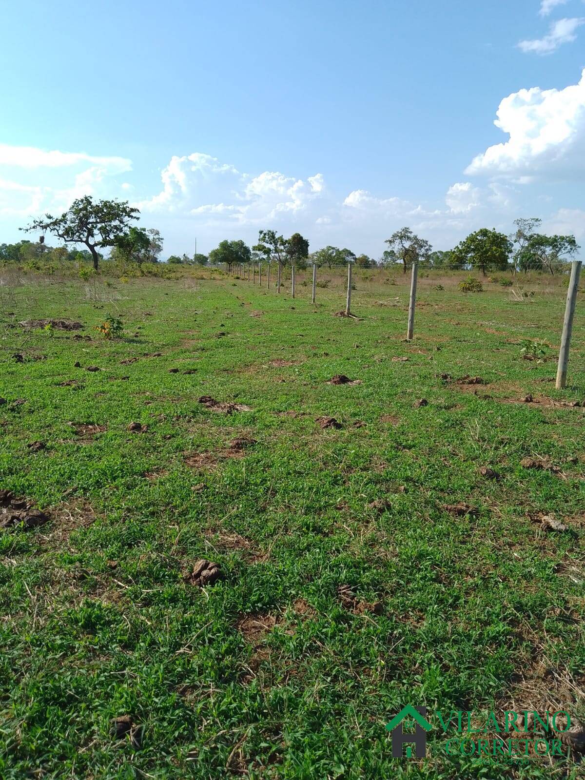
[[[268,263],[268,271],[266,274],[266,287],[270,289],[270,263]],[[234,270],[240,278],[246,278],[246,268],[244,264],[238,264],[236,266],[230,266],[228,263],[222,263],[219,266],[225,273],[232,274]],[[347,298],[346,298],[346,317],[352,316],[351,303],[352,303],[352,268],[353,263],[347,264]],[[562,324],[562,337],[561,348],[558,353],[558,366],[557,366],[557,378],[556,388],[562,390],[566,387],[567,383],[567,366],[569,364],[569,346],[571,342],[571,334],[573,332],[573,317],[575,316],[575,307],[577,300],[577,293],[579,291],[579,277],[581,273],[581,261],[574,260],[571,263],[571,275],[569,278],[569,289],[567,291],[567,300],[565,307],[565,319]],[[250,282],[250,264],[247,268],[248,282]],[[280,293],[281,282],[281,264],[278,263],[278,275],[276,280],[276,292]],[[417,307],[417,279],[418,279],[418,263],[413,263],[412,272],[410,276],[410,298],[408,304],[408,325],[406,328],[406,340],[412,341],[414,337],[414,312]],[[256,264],[252,264],[252,284],[256,284]],[[258,263],[258,284],[262,285],[262,264]],[[295,297],[295,266],[291,267],[291,298]],[[313,264],[313,287],[311,291],[311,303],[315,303],[317,289],[317,265]]]

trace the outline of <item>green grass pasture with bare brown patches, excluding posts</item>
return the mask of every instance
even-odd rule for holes
[[[341,288],[209,276],[3,293],[0,487],[48,521],[0,530],[0,777],[582,776],[435,734],[392,759],[385,729],[404,704],[585,722],[582,301],[557,392],[562,286],[423,279],[405,342],[405,279],[358,275],[354,320]],[[19,324],[62,317],[83,330]]]

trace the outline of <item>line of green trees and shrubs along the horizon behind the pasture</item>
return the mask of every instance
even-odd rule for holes
[[[130,222],[139,218],[140,211],[127,201],[98,200],[87,195],[73,204],[59,217],[45,215],[22,230],[40,232],[37,242],[23,240],[0,244],[0,262],[91,261],[97,271],[100,261],[158,263],[163,239],[157,229],[143,229]],[[347,248],[324,246],[310,253],[309,241],[299,232],[288,239],[272,229],[261,229],[258,243],[247,246],[241,240],[222,240],[208,255],[171,255],[169,264],[199,264],[201,266],[226,264],[230,269],[239,264],[272,262],[282,266],[307,268],[317,264],[327,268],[355,263],[358,268],[388,268],[396,264],[406,271],[413,263],[426,268],[474,269],[486,275],[488,271],[548,271],[551,275],[562,264],[573,258],[580,246],[575,236],[547,236],[541,231],[541,219],[519,218],[515,231],[506,236],[496,229],[480,228],[471,232],[452,250],[433,250],[427,239],[417,236],[409,227],[403,227],[385,240],[388,248],[378,260],[366,254],[355,254]],[[48,233],[62,241],[62,246],[50,247],[44,242]],[[85,249],[76,249],[82,244]],[[68,247],[71,248],[68,248]],[[104,250],[109,250],[108,258]]]

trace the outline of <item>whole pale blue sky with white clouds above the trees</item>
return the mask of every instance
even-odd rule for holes
[[[519,216],[585,242],[584,22],[583,0],[4,0],[0,242],[85,193],[137,204],[165,255],[272,227],[379,257],[402,225],[446,249]]]

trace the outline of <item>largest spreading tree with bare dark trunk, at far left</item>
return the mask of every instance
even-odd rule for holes
[[[35,219],[26,231],[50,232],[66,243],[83,243],[91,253],[97,271],[100,255],[97,247],[115,245],[116,236],[128,228],[140,211],[128,205],[128,201],[98,200],[90,195],[73,200],[73,204],[60,217],[50,214]]]

